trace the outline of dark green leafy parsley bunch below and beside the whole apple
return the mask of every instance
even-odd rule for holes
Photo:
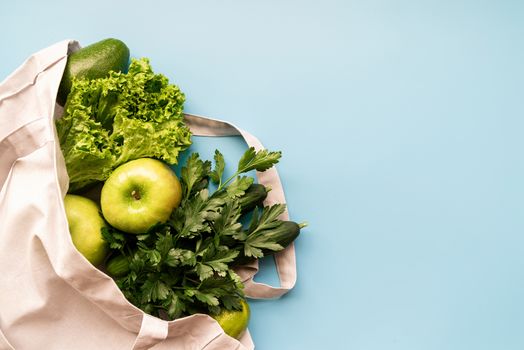
[[[249,148],[237,171],[223,179],[225,161],[218,150],[214,167],[193,153],[181,169],[181,204],[168,222],[143,235],[105,229],[113,255],[124,261],[115,281],[126,298],[167,319],[240,309],[243,284],[233,267],[284,249],[275,230],[284,223],[278,217],[285,210],[282,204],[260,212],[255,208],[244,227],[241,203],[254,179],[242,174],[265,171],[280,157],[280,152]],[[217,185],[213,193],[208,189],[210,180]]]

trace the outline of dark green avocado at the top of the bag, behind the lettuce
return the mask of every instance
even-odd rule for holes
[[[58,87],[57,101],[62,106],[71,90],[73,77],[97,79],[110,71],[127,73],[129,48],[118,39],[105,39],[71,53],[67,58],[64,75]]]

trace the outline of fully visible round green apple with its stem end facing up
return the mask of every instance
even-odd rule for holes
[[[182,199],[175,172],[151,158],[127,162],[102,187],[100,204],[109,224],[128,233],[145,233],[165,222]]]

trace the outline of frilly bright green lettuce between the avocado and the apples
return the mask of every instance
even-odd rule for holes
[[[185,96],[149,60],[133,59],[128,73],[74,80],[56,121],[60,147],[75,191],[104,181],[119,165],[151,157],[177,164],[191,144],[184,124]]]

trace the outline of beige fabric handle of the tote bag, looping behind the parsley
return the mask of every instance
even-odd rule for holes
[[[242,136],[248,146],[254,147],[255,150],[264,148],[262,143],[254,135],[226,121],[192,114],[185,114],[184,117],[186,125],[195,136]],[[257,171],[257,178],[259,183],[271,187],[271,191],[264,201],[265,205],[276,203],[286,204],[284,188],[282,187],[280,176],[275,167],[264,172]],[[279,218],[281,220],[289,220],[287,209]],[[276,253],[274,258],[280,280],[280,287],[273,287],[254,281],[253,278],[259,269],[257,260],[237,269],[237,273],[244,282],[246,296],[254,299],[278,298],[289,292],[295,286],[297,281],[297,266],[294,244],[291,243],[286,249]]]

